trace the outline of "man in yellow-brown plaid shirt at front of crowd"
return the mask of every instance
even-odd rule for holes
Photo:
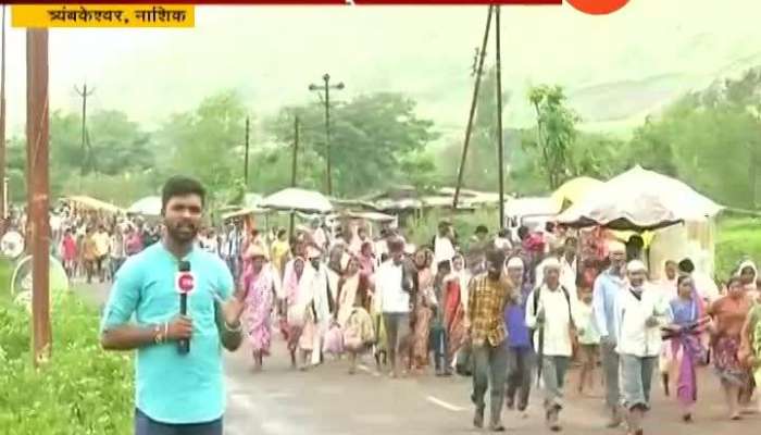
[[[503,273],[504,252],[490,249],[486,272],[471,281],[467,303],[469,336],[473,346],[473,425],[484,426],[484,396],[491,389],[489,430],[503,432],[502,401],[508,371],[508,341],[504,308],[513,298],[513,286]]]

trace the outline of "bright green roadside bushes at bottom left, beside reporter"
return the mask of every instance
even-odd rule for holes
[[[75,296],[52,306],[52,358],[41,368],[32,364],[25,309],[0,307],[0,433],[132,433],[132,358],[100,348],[97,312]]]

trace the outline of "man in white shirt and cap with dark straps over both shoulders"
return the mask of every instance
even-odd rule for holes
[[[577,299],[560,284],[560,261],[548,258],[544,262],[545,282],[531,293],[526,304],[526,325],[535,330],[534,348],[541,364],[545,384],[547,425],[552,432],[561,430],[560,410],[563,407],[563,385],[573,348],[571,334],[577,318]]]

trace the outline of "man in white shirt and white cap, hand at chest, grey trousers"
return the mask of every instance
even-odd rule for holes
[[[639,260],[626,265],[628,286],[615,300],[616,351],[621,357],[621,393],[631,435],[643,435],[641,422],[650,409],[650,385],[661,349],[661,330],[668,306],[657,289],[646,285],[647,268]]]

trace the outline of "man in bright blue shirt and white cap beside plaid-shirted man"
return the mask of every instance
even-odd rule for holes
[[[515,408],[525,415],[528,407],[528,395],[532,387],[532,370],[534,365],[534,349],[531,333],[526,326],[526,302],[532,291],[531,283],[524,279],[524,265],[520,257],[508,261],[508,277],[513,283],[520,296],[514,303],[504,310],[504,322],[508,325],[508,409]]]

